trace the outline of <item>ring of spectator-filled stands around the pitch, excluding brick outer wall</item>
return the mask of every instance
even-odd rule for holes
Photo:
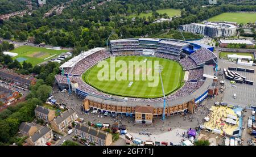
[[[188,48],[189,46],[189,48]],[[106,48],[94,48],[87,52],[82,52],[65,62],[60,66],[63,71],[61,75],[56,75],[56,83],[60,90],[68,89],[71,84],[72,91],[77,95],[86,97],[97,96],[102,99],[109,99],[114,101],[141,101],[141,102],[161,102],[163,97],[156,99],[142,99],[140,97],[121,97],[116,95],[109,95],[104,92],[98,91],[89,84],[86,84],[81,76],[96,65],[96,63],[105,60],[111,56],[154,56],[160,58],[167,58],[168,60],[175,60],[180,63],[183,70],[188,71],[188,79],[179,90],[167,95],[166,100],[180,99],[183,97],[192,96],[194,99],[201,97],[208,90],[207,88],[212,84],[213,79],[203,77],[205,69],[211,71],[214,75],[214,61],[217,61],[216,55],[208,48],[201,45],[196,45],[197,49],[193,49],[191,43],[181,40],[170,39],[121,39],[110,41],[110,50]],[[188,53],[188,50],[191,52]],[[68,79],[67,79],[68,75]],[[70,82],[69,82],[69,81]],[[207,81],[206,81],[207,80]],[[206,84],[207,83],[207,84]],[[200,93],[200,94],[199,94]],[[185,100],[185,99],[184,99]],[[189,100],[190,101],[190,100]],[[172,103],[169,103],[172,104]]]

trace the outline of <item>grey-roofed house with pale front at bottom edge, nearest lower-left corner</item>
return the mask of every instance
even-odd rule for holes
[[[42,129],[36,131],[34,135],[27,139],[27,143],[30,146],[45,146],[53,138],[52,129],[48,125]]]

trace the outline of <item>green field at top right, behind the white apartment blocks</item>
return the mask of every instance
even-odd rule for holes
[[[237,22],[237,23],[254,23],[256,21],[256,13],[247,13],[247,12],[225,12],[223,14],[214,16],[213,18],[208,19],[210,22],[218,21],[228,21],[228,22]]]

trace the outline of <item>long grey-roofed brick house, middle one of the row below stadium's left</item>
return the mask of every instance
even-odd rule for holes
[[[72,108],[69,108],[51,121],[51,128],[56,132],[64,131],[68,126],[71,126],[72,122],[77,118],[76,112]]]

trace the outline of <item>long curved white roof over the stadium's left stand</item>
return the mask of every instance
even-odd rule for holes
[[[104,50],[104,49],[106,49],[106,48],[94,48],[94,49],[88,50],[84,53],[81,53],[78,56],[73,57],[71,60],[63,63],[63,65],[61,65],[60,68],[73,67],[76,65],[76,63],[83,60],[84,58],[86,58],[86,57],[90,56],[91,54],[96,53],[100,50]]]

